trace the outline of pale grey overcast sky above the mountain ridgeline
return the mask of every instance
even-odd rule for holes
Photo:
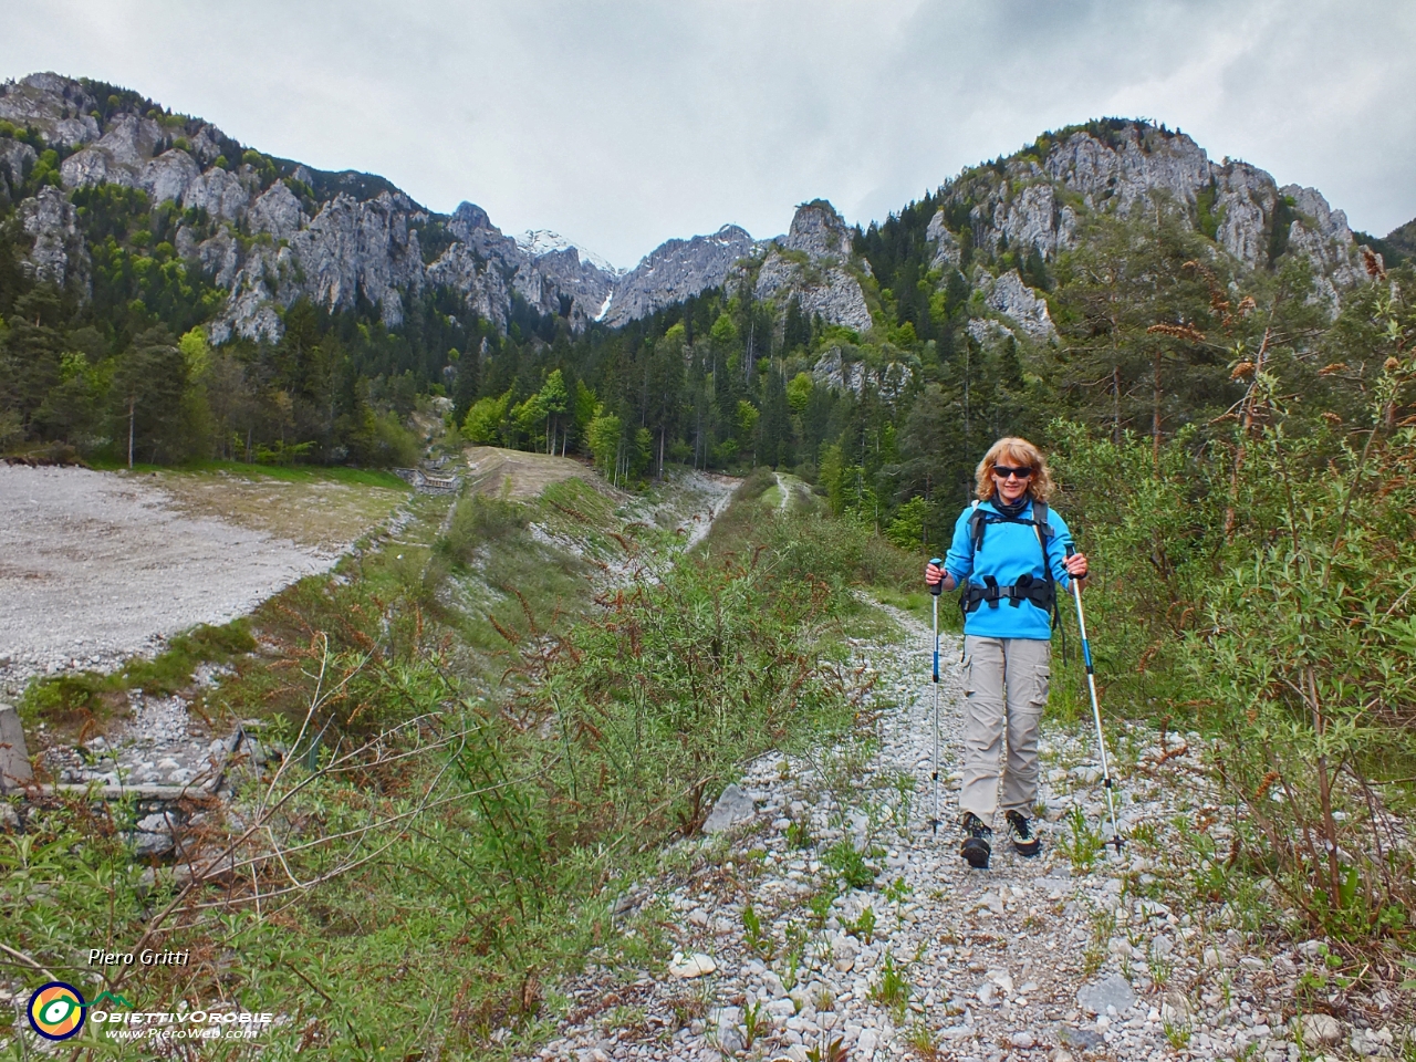
[[[881,219],[1103,115],[1416,215],[1405,0],[6,0],[0,75],[137,89],[266,153],[480,204],[632,266],[671,236]]]

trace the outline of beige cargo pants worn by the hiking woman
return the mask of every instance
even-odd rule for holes
[[[964,637],[964,779],[959,809],[993,826],[1004,732],[1003,810],[1032,818],[1038,800],[1038,731],[1048,704],[1052,643]]]

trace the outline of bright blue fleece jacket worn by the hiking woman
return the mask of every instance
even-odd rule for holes
[[[978,508],[993,517],[1000,515],[991,501],[980,501]],[[954,541],[944,556],[944,569],[954,576],[956,583],[961,585],[967,578],[973,583],[983,585],[984,576],[991,575],[1000,586],[1011,586],[1025,572],[1038,581],[1046,578],[1046,569],[1042,566],[1042,544],[1038,541],[1038,530],[1031,523],[986,524],[983,545],[976,552],[969,528],[969,517],[973,513],[970,507],[960,514],[954,524]],[[1027,517],[1031,520],[1031,508]],[[1046,564],[1052,569],[1052,578],[1056,579],[1058,593],[1070,593],[1070,581],[1062,562],[1066,559],[1066,548],[1072,544],[1072,532],[1051,507],[1048,507],[1048,525],[1052,528],[1052,535],[1046,539]],[[1052,637],[1052,617],[1031,600],[1022,600],[1017,607],[1007,599],[1000,600],[997,607],[981,602],[974,612],[964,615],[964,634],[1046,641]]]

